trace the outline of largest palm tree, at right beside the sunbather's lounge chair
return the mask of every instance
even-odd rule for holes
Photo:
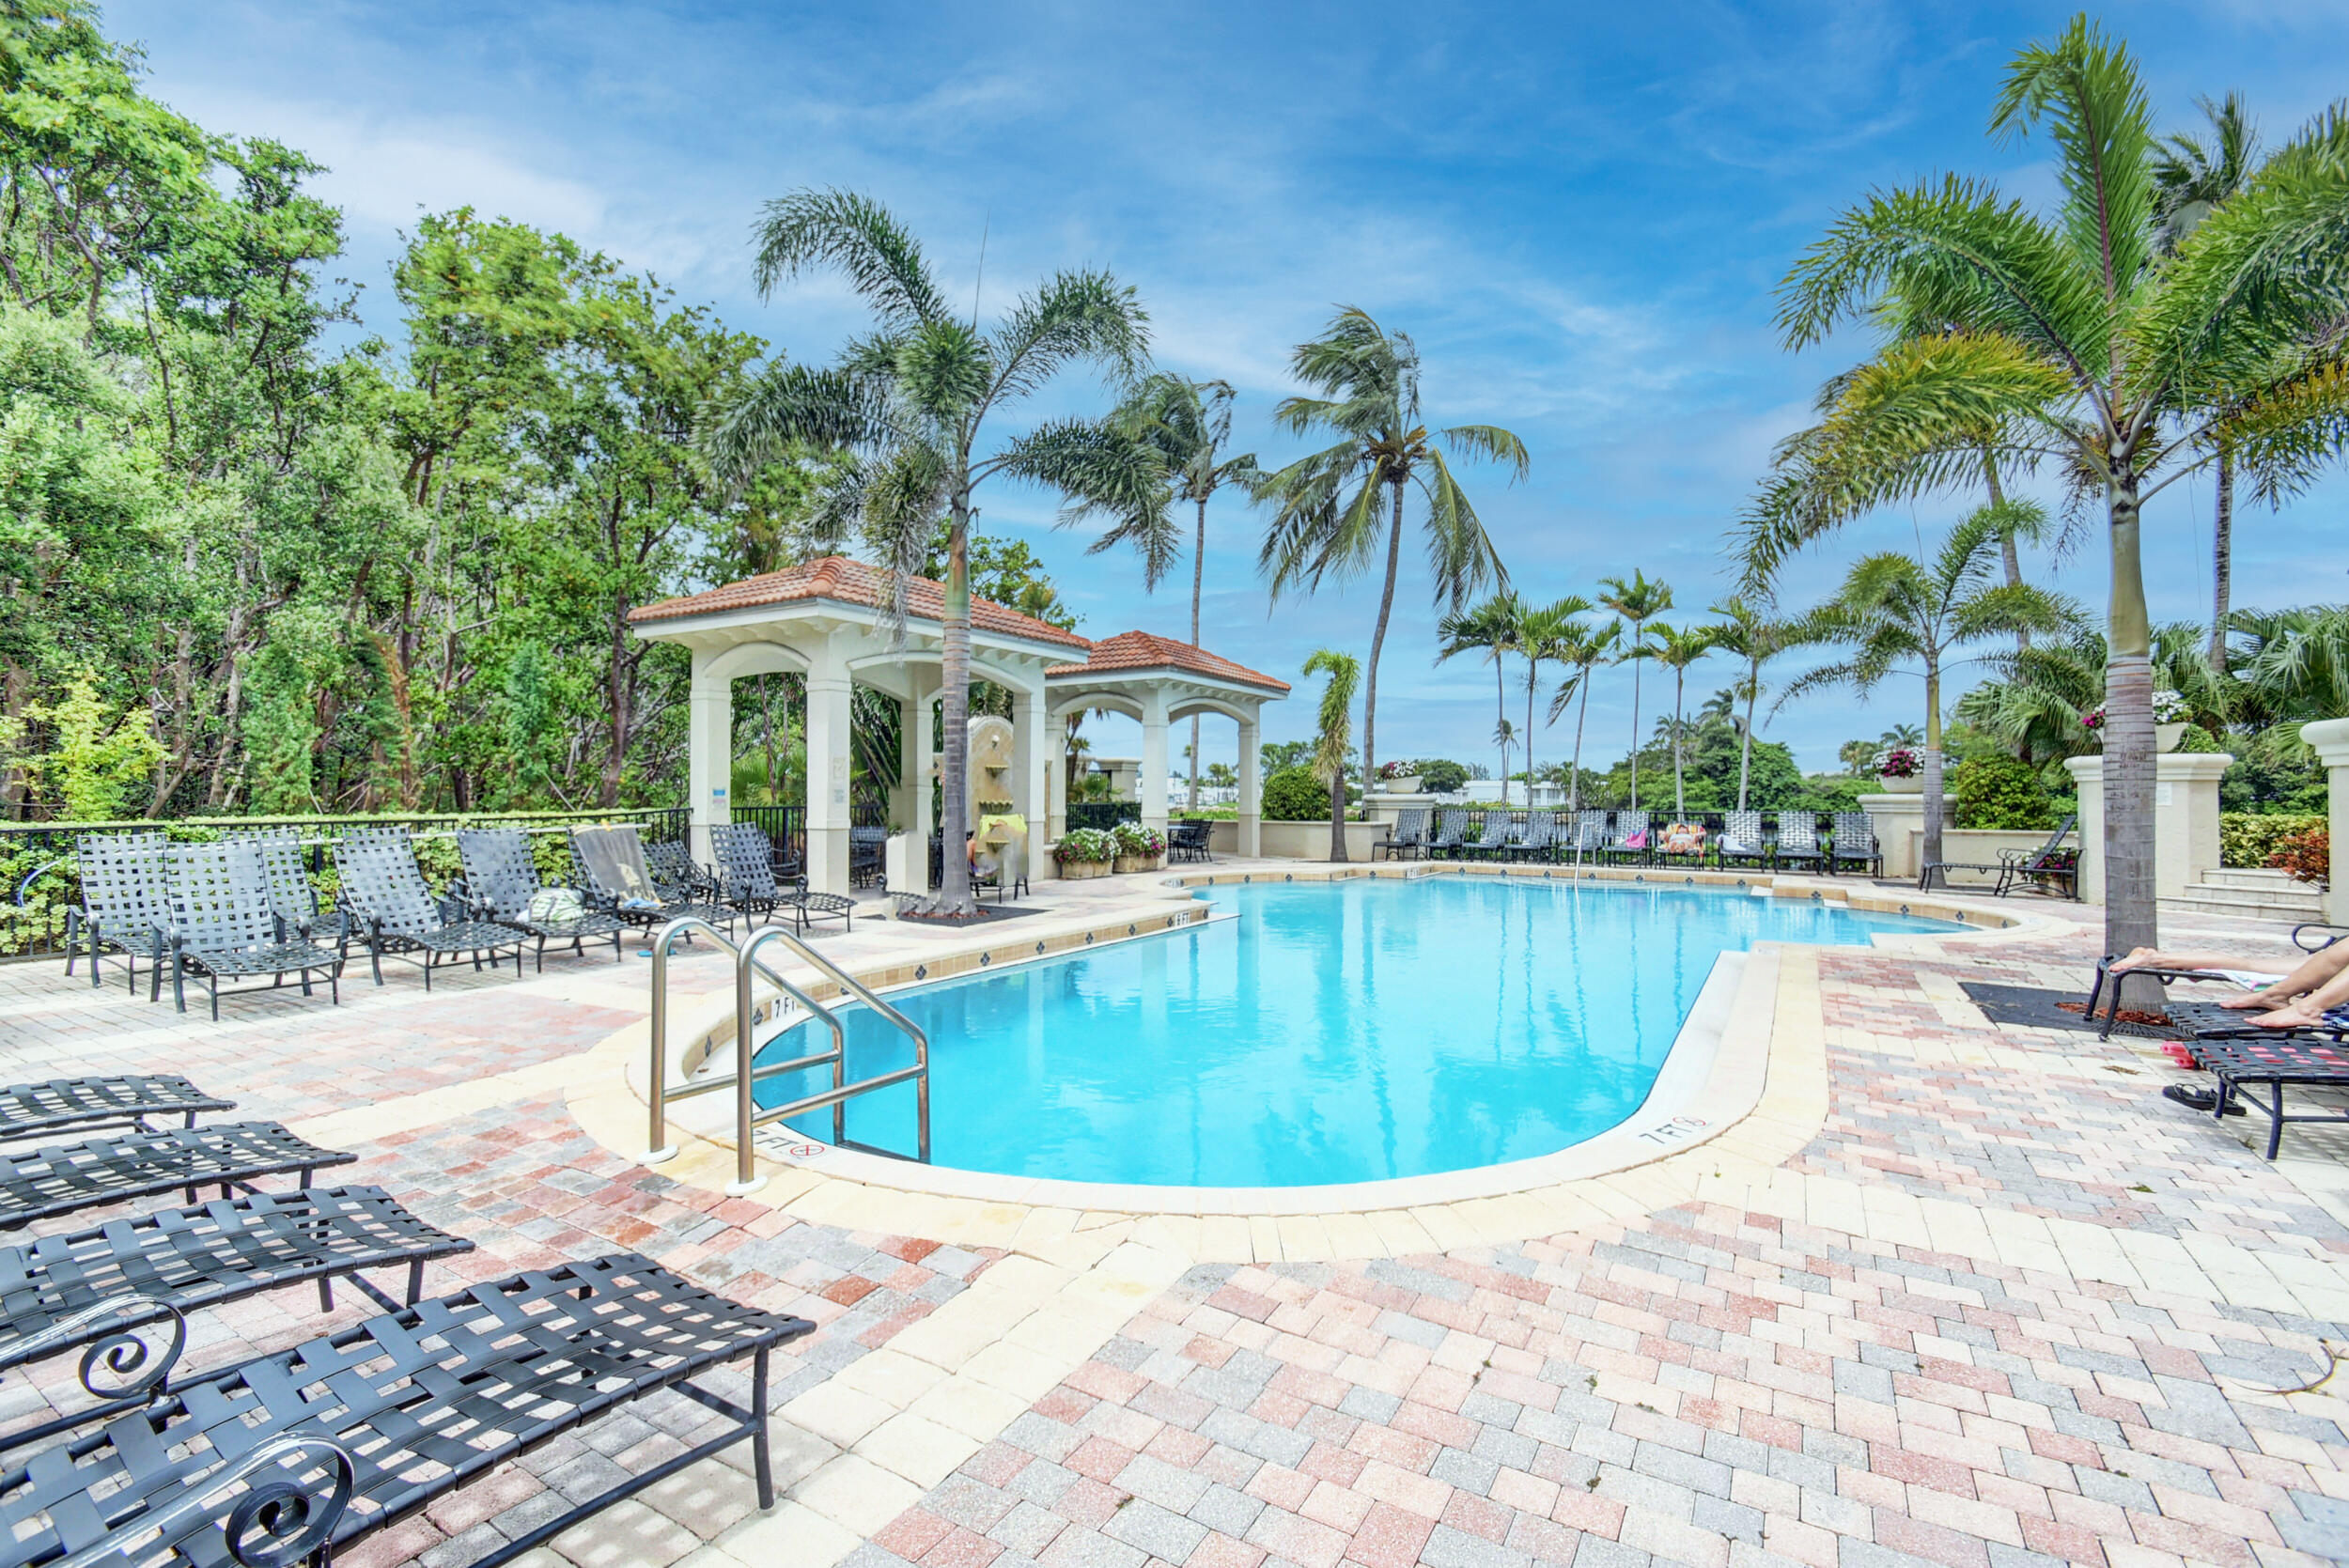
[[[1879,192],[1781,291],[1788,347],[1896,307],[1959,324],[1896,340],[1846,378],[1748,535],[1748,575],[1882,502],[1971,474],[1985,425],[2102,493],[2112,601],[2105,723],[2105,946],[2156,941],[2152,622],[2145,502],[2210,460],[2302,484],[2349,430],[2333,324],[2349,261],[2349,106],[2279,150],[2156,265],[2159,146],[2128,52],[2086,16],[2008,68],[1992,129],[2046,124],[2058,209],[1959,176]],[[2142,988],[2133,986],[2133,995]]]

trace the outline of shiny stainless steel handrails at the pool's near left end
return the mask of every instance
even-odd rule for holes
[[[709,937],[719,948],[733,953],[735,960],[735,1068],[733,1073],[719,1073],[714,1077],[695,1077],[681,1084],[669,1082],[669,948],[679,937],[688,932],[700,932]],[[895,1028],[900,1035],[914,1042],[914,1066],[897,1068],[895,1073],[876,1073],[874,1077],[860,1077],[848,1082],[848,1030],[841,1028],[839,1016],[808,995],[792,979],[778,974],[759,960],[759,948],[766,944],[782,944],[792,948],[794,955],[806,960],[839,986],[850,998],[864,1002],[874,1016]],[[752,1033],[759,1023],[759,1007],[752,1000],[752,974],[766,979],[775,991],[799,1002],[808,1016],[822,1019],[832,1030],[832,1049],[815,1052],[810,1056],[794,1056],[792,1061],[773,1061],[763,1066],[752,1066],[756,1056],[756,1035]],[[841,969],[836,962],[810,948],[806,941],[794,937],[780,925],[768,925],[749,937],[740,948],[728,941],[707,920],[695,920],[684,915],[669,920],[660,927],[653,939],[653,1061],[648,1075],[646,1106],[651,1108],[651,1131],[639,1164],[660,1164],[662,1160],[677,1157],[677,1145],[669,1143],[669,1101],[693,1099],[695,1094],[716,1094],[719,1089],[735,1091],[735,1178],[726,1183],[726,1192],[742,1197],[745,1192],[756,1192],[766,1185],[766,1176],[756,1171],[756,1157],[752,1153],[752,1134],[785,1117],[806,1115],[808,1110],[822,1110],[832,1106],[832,1143],[848,1143],[848,1101],[860,1094],[871,1094],[874,1089],[888,1089],[893,1084],[914,1084],[914,1117],[916,1117],[916,1160],[930,1162],[930,1038],[921,1033],[921,1026],[907,1019],[902,1012],[883,1002],[874,991],[857,976]],[[749,1070],[745,1070],[749,1068]],[[796,1099],[787,1106],[759,1108],[754,1101],[754,1089],[763,1077],[780,1077],[785,1073],[806,1073],[808,1068],[832,1068],[832,1087],[806,1099]],[[860,1145],[857,1145],[860,1148]],[[890,1150],[871,1150],[879,1155],[890,1155]],[[902,1160],[902,1155],[890,1155]]]

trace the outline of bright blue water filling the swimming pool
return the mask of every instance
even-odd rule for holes
[[[1712,960],[1757,941],[1952,932],[1734,890],[1435,876],[1207,890],[1205,927],[890,1000],[930,1035],[930,1157],[1160,1185],[1311,1185],[1525,1160],[1647,1099]],[[848,1075],[911,1061],[864,1009]],[[822,1026],[766,1047],[820,1049]],[[766,1106],[820,1087],[759,1084]],[[832,1113],[792,1122],[815,1138]],[[914,1089],[848,1136],[914,1150]]]

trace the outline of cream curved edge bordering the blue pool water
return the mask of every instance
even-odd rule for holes
[[[1447,869],[1449,871],[1449,869]],[[1515,869],[1468,873],[1510,876]],[[1423,869],[1283,869],[1280,880],[1346,880],[1358,876],[1412,876]],[[1539,876],[1539,871],[1515,871]],[[1264,871],[1191,873],[1160,878],[1163,890],[1189,890],[1217,880],[1266,880]],[[1654,880],[1658,885],[1750,885],[1771,897],[1816,897],[1851,908],[1914,913],[1964,922],[1971,930],[1931,937],[1879,937],[1879,951],[1933,953],[1943,944],[1964,948],[2069,930],[2069,920],[2025,913],[1957,894],[1884,894],[1851,890],[1816,878],[1769,878],[1731,873],[1672,873],[1670,878],[1583,873],[1581,880]],[[1839,894],[1839,897],[1837,897]],[[1177,894],[1179,897],[1179,894]],[[1165,908],[1165,906],[1160,906]],[[1128,941],[1163,934],[1167,925],[1130,925]],[[1170,922],[1172,925],[1172,922]],[[1184,922],[1186,925],[1186,922]],[[1118,1221],[1156,1221],[1170,1244],[1193,1261],[1268,1261],[1285,1256],[1407,1256],[1463,1244],[1499,1244],[1604,1223],[1701,1195],[1715,1181],[1766,1181],[1769,1171],[1799,1153],[1825,1120],[1825,1023],[1818,998],[1818,953],[1806,944],[1757,944],[1743,958],[1734,993],[1712,1035],[1708,1070],[1684,1094],[1651,1089],[1640,1113],[1618,1127],[1532,1160],[1395,1176],[1384,1181],[1318,1188],[1158,1188],[1120,1183],[996,1176],[949,1167],[864,1155],[768,1129],[756,1136],[756,1162],[768,1176],[752,1195],[775,1209],[832,1223],[869,1223],[897,1235],[994,1237],[1010,1244],[1024,1235],[1066,1235]],[[1064,948],[1029,955],[1057,958]],[[982,967],[982,948],[961,953],[954,974]],[[1003,962],[1017,962],[1005,955]],[[947,979],[947,965],[935,979]],[[860,976],[881,979],[881,976]],[[1715,988],[1708,976],[1705,993]],[[926,981],[909,981],[926,984]],[[883,991],[904,988],[900,984]],[[1672,1073],[1687,1045],[1701,1045],[1691,1026],[1705,1014],[1705,993],[1691,1009],[1672,1054],[1658,1075]],[[731,1021],[728,1021],[731,1026]],[[580,1124],[599,1143],[634,1157],[644,1136],[644,1040],[641,1023],[618,1030],[590,1052],[599,1070],[568,1101]],[[634,1068],[634,1070],[630,1070]],[[721,1096],[712,1096],[721,1099]],[[716,1110],[712,1101],[700,1101]],[[677,1124],[686,1153],[658,1167],[691,1185],[721,1188],[733,1174],[731,1129],[695,1117]],[[1661,1183],[1661,1185],[1658,1185]]]

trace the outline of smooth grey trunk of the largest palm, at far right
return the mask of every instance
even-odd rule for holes
[[[2105,629],[2105,951],[2156,946],[2154,908],[2154,636],[2138,554],[2133,453],[2114,455],[2105,486],[2112,519],[2112,610]],[[2128,1007],[2159,1007],[2156,981],[2128,976]]]

